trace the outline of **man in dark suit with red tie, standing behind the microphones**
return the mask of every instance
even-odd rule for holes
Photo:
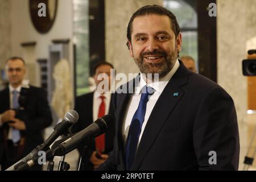
[[[76,98],[75,110],[79,113],[79,121],[72,126],[72,133],[85,129],[97,118],[106,114],[113,115],[112,94],[110,93],[111,69],[114,69],[113,65],[104,61],[95,65],[93,72],[97,89]],[[113,123],[105,135],[90,140],[86,147],[79,149],[84,164],[83,170],[92,171],[108,158],[109,152],[113,150],[114,127]]]

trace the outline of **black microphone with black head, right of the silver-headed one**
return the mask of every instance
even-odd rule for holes
[[[60,143],[59,147],[53,148],[54,156],[63,156],[88,140],[98,137],[99,135],[105,133],[112,123],[114,123],[114,118],[110,114],[105,115],[102,118],[98,118],[94,123],[90,124],[84,130],[79,131],[64,142]]]

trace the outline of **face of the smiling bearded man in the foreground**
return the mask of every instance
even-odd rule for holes
[[[130,55],[142,73],[167,75],[181,50],[181,34],[175,39],[171,20],[166,15],[144,15],[133,20]]]

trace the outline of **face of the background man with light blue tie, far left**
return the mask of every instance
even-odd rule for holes
[[[6,73],[9,83],[16,88],[22,84],[26,68],[22,60],[9,60],[6,64]]]

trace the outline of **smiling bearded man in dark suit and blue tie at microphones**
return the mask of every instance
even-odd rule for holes
[[[97,170],[237,170],[233,100],[177,60],[181,34],[175,15],[144,6],[131,17],[127,39],[141,74],[113,96],[114,150]]]

